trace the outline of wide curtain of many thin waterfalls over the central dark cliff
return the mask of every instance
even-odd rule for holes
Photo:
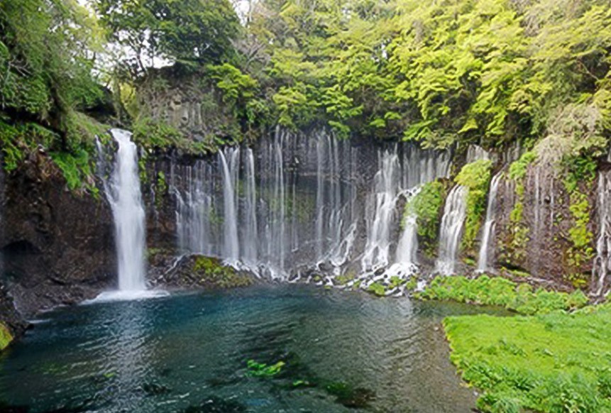
[[[358,270],[353,263],[368,270],[415,263],[407,258],[415,238],[407,233],[397,244],[397,200],[447,176],[450,162],[447,152],[409,144],[363,146],[277,128],[253,148],[174,162],[165,173],[182,253],[271,278],[309,271],[332,278]]]

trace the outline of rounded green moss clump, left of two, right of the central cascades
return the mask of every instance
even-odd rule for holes
[[[446,188],[439,181],[429,182],[405,204],[403,221],[409,216],[416,216],[418,241],[429,256],[434,256],[437,249],[440,216],[444,207]]]

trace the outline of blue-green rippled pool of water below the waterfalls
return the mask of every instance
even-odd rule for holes
[[[473,311],[298,285],[98,301],[46,314],[0,356],[0,402],[32,412],[468,412],[475,398],[439,323]],[[285,365],[260,377],[248,360]]]

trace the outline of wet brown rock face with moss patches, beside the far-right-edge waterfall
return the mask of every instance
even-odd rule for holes
[[[593,260],[584,257],[576,263],[571,258],[570,233],[575,219],[563,177],[531,165],[522,180],[522,196],[517,185],[507,177],[500,182],[495,211],[495,267],[527,272],[556,285],[588,289]],[[596,194],[594,185],[590,186],[581,183],[579,190],[588,198],[588,231],[595,234]],[[522,213],[516,214],[516,205],[520,203]],[[521,215],[518,224],[517,215]]]

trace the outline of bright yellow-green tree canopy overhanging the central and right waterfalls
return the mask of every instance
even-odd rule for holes
[[[610,119],[602,0],[263,0],[249,23],[287,125],[442,147],[542,138],[571,102]]]

